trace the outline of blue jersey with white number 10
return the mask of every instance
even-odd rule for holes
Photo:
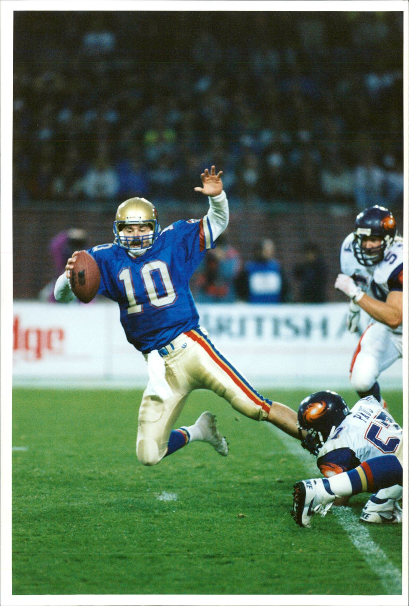
[[[119,304],[126,338],[137,350],[149,353],[197,327],[189,280],[208,248],[214,242],[206,216],[169,225],[136,258],[117,244],[88,250],[101,273],[98,293]]]

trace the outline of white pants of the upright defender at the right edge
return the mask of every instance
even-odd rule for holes
[[[356,391],[368,391],[383,370],[402,358],[402,335],[373,322],[359,339],[350,368],[350,381]]]

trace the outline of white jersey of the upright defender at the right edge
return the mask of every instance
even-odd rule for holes
[[[391,247],[385,251],[385,258],[371,267],[365,267],[356,260],[352,248],[353,239],[354,235],[350,233],[342,242],[339,259],[341,272],[351,276],[365,293],[378,301],[386,301],[391,290],[402,290],[403,239],[396,236]],[[402,325],[396,330],[389,330],[401,334]]]

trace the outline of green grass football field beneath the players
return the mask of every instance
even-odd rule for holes
[[[296,409],[308,393],[266,395]],[[298,441],[196,391],[180,424],[211,410],[229,456],[194,442],[146,468],[140,396],[15,388],[13,595],[401,594],[402,525],[358,524],[368,495],[293,522],[293,482],[319,475]],[[384,397],[402,423],[402,395]]]

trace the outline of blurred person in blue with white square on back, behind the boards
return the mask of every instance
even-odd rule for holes
[[[236,279],[240,299],[249,303],[281,303],[288,300],[286,279],[275,257],[275,244],[269,238],[257,242],[253,260],[248,261]]]

